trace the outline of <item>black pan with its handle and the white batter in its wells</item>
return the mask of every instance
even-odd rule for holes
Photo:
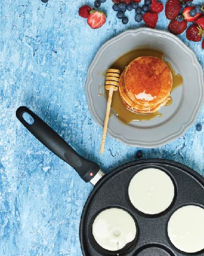
[[[24,114],[32,117],[29,124]],[[165,159],[127,163],[104,175],[27,107],[16,116],[48,149],[95,185],[81,216],[83,255],[204,255],[204,179]]]

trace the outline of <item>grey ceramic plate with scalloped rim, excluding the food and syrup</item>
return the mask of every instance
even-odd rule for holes
[[[165,31],[140,28],[123,32],[107,41],[88,68],[86,96],[91,115],[103,127],[107,100],[98,94],[99,85],[104,85],[104,71],[121,55],[143,46],[163,51],[165,60],[183,77],[183,86],[172,92],[173,103],[161,108],[160,118],[126,125],[112,115],[108,134],[126,145],[158,147],[182,136],[196,122],[204,98],[202,68],[193,51],[178,37]]]

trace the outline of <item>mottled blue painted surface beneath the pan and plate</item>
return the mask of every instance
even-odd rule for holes
[[[69,144],[105,172],[134,160],[136,147],[107,138],[100,155],[101,128],[87,109],[86,71],[99,47],[128,28],[107,0],[107,23],[92,30],[78,8],[94,1],[3,1],[0,5],[0,255],[82,255],[78,228],[83,205],[92,190],[76,172],[41,145],[15,118],[30,107]],[[157,28],[166,29],[165,15]],[[141,24],[144,26],[144,24]],[[189,42],[204,68],[201,43]],[[204,109],[197,123],[203,124]],[[167,158],[204,175],[204,124],[179,140],[144,149],[144,158]]]

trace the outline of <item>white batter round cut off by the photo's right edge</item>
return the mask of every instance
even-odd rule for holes
[[[204,209],[188,205],[175,211],[168,222],[168,237],[185,253],[204,249]]]

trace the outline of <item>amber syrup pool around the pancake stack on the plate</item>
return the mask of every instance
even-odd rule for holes
[[[116,60],[116,62],[112,64],[111,68],[116,68],[118,70],[123,71],[132,60],[141,56],[157,57],[161,60],[164,60],[165,54],[155,49],[136,49],[119,57]],[[179,74],[175,74],[170,63],[168,62],[165,62],[165,63],[167,64],[168,68],[170,68],[172,73],[172,89],[171,89],[171,92],[172,92],[183,83],[183,79]],[[105,90],[105,94],[108,97],[107,90]],[[169,106],[171,105],[171,103],[172,103],[172,98],[170,98],[170,100],[166,103],[165,106]],[[123,104],[121,97],[119,96],[119,90],[113,93],[112,112],[114,112],[114,114],[117,115],[119,120],[121,120],[121,122],[125,124],[131,123],[132,121],[145,121],[145,120],[153,119],[156,116],[162,116],[162,114],[159,113],[158,111],[153,114],[137,114],[135,112],[128,110],[126,106]]]

